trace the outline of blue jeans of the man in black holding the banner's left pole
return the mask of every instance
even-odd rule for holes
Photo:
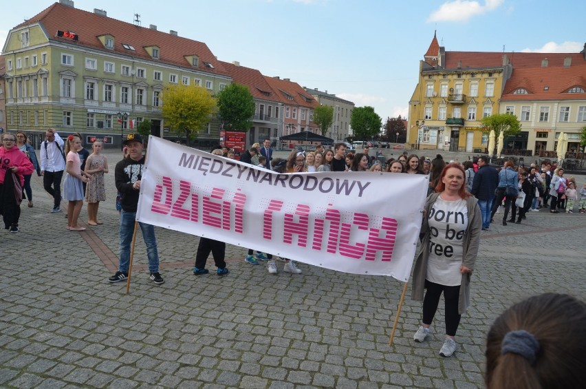
[[[130,244],[134,233],[134,222],[136,212],[120,213],[120,265],[118,271],[128,273],[130,263]],[[159,271],[159,253],[157,251],[157,238],[155,238],[155,227],[151,224],[139,222],[142,231],[142,239],[146,244],[146,257],[149,259],[149,272],[158,273]]]

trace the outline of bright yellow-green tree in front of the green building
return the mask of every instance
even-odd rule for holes
[[[217,109],[215,98],[196,85],[169,85],[162,93],[162,113],[165,124],[187,142],[197,137]]]

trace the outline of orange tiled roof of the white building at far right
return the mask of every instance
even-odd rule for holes
[[[586,90],[586,63],[584,62],[582,60],[580,65],[573,65],[574,61],[572,61],[572,65],[568,67],[540,66],[525,69],[513,67],[512,76],[505,84],[501,99],[508,101],[584,100],[586,93],[567,93],[567,90],[576,86]],[[525,88],[529,93],[512,94],[520,87]]]

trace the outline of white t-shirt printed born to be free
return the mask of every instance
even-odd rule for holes
[[[446,201],[439,196],[428,215],[429,260],[426,280],[446,286],[462,284],[464,234],[468,227],[466,200]]]

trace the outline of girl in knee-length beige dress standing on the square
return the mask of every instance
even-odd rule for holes
[[[106,187],[104,174],[108,172],[108,160],[102,154],[102,142],[95,140],[92,149],[94,152],[87,158],[85,172],[91,174],[91,180],[87,182],[85,200],[87,201],[87,218],[90,226],[103,224],[98,220],[98,207],[100,201],[106,200]]]

